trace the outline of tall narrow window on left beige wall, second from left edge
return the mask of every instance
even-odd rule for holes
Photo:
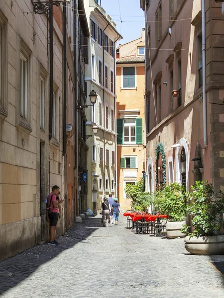
[[[27,120],[28,61],[20,53],[20,116]]]

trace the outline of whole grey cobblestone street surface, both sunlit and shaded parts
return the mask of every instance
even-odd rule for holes
[[[101,227],[100,216],[76,224],[57,247],[38,245],[0,263],[3,298],[224,298],[224,278],[193,256],[184,239]]]

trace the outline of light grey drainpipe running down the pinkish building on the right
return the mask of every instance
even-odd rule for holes
[[[202,96],[203,96],[203,137],[204,147],[208,147],[207,140],[207,108],[206,108],[206,22],[205,22],[205,0],[202,0]]]

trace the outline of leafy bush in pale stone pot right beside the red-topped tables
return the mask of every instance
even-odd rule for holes
[[[185,237],[181,229],[186,223],[187,204],[184,186],[180,183],[165,185],[154,194],[154,211],[168,216],[166,224],[167,237]]]

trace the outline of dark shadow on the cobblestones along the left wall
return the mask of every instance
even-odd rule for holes
[[[101,218],[90,217],[82,224],[75,224],[64,235],[57,238],[58,246],[47,243],[36,245],[0,262],[0,295],[15,287],[25,280],[42,264],[57,257],[66,249],[72,248],[77,243],[90,244],[86,238],[101,227]],[[44,278],[44,276],[43,276]]]

